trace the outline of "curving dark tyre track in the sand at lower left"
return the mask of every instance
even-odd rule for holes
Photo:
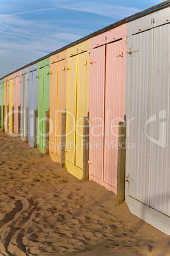
[[[6,213],[4,219],[0,221],[1,241],[3,241],[3,248],[1,245],[0,252],[13,256],[11,252],[17,247],[20,252],[29,256],[25,245],[22,243],[24,234],[21,234],[21,231],[28,229],[29,223],[35,216],[37,204],[34,203],[32,198],[26,199],[18,196],[10,198],[15,199],[15,208],[10,213]],[[23,214],[27,214],[27,216],[24,217]],[[20,218],[21,220],[17,221]]]

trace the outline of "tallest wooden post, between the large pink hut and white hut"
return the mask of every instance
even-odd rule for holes
[[[124,202],[125,164],[126,164],[126,122],[119,122],[117,162],[117,203]]]

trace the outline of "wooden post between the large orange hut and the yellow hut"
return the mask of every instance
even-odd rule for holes
[[[62,138],[61,138],[61,165],[65,167],[65,135],[66,135],[66,113],[62,114]]]

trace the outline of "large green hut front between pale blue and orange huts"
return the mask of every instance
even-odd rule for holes
[[[41,152],[46,148],[46,111],[49,111],[49,58],[38,63],[38,131],[37,146]]]

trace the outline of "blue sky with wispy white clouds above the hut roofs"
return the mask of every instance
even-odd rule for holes
[[[0,0],[0,78],[157,0]]]

